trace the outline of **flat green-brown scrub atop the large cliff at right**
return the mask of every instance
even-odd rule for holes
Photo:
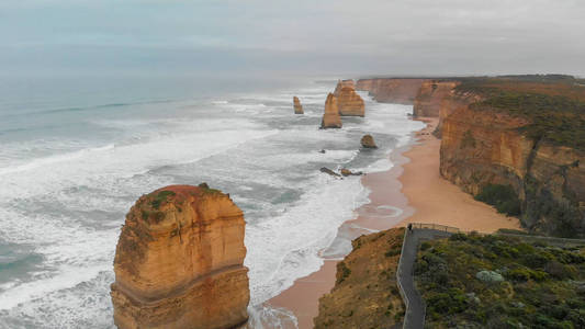
[[[480,94],[473,109],[528,120],[520,131],[535,140],[585,150],[585,86],[571,76],[461,78],[458,92]]]

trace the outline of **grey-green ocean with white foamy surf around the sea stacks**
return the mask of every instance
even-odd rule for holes
[[[318,270],[319,251],[369,194],[359,177],[319,168],[389,170],[387,155],[423,127],[408,118],[412,106],[361,92],[365,117],[320,131],[335,86],[0,79],[0,328],[113,328],[120,227],[142,194],[169,184],[207,182],[244,211],[250,311]],[[293,114],[294,95],[304,115]],[[361,150],[363,134],[380,148]]]

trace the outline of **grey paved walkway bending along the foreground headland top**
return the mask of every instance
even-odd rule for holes
[[[398,280],[403,293],[408,298],[408,307],[404,316],[404,328],[423,329],[425,327],[425,303],[415,287],[413,275],[416,253],[420,241],[447,238],[451,235],[451,232],[426,228],[414,228],[406,234],[398,268]]]

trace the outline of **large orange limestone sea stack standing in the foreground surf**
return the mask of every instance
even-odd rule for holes
[[[119,328],[233,328],[248,319],[245,222],[229,195],[171,185],[126,215],[111,295]]]

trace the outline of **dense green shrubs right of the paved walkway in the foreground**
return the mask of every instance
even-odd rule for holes
[[[584,328],[585,249],[457,234],[421,245],[428,328]]]

